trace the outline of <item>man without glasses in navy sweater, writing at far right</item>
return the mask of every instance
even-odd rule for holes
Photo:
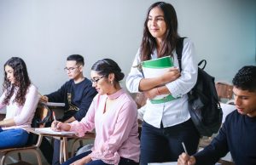
[[[218,136],[194,156],[179,156],[179,165],[211,165],[229,151],[236,165],[256,164],[256,66],[241,68],[233,79],[237,111],[226,117]]]

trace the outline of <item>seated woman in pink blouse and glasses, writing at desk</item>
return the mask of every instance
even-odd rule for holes
[[[55,131],[74,131],[79,136],[95,128],[94,147],[63,164],[138,165],[137,105],[120,87],[119,81],[125,77],[124,73],[113,60],[103,59],[92,65],[90,77],[98,94],[86,116],[80,122],[69,124],[55,121],[51,128]]]

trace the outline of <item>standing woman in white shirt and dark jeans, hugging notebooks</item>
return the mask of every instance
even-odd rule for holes
[[[200,135],[189,115],[187,93],[197,79],[194,45],[187,38],[183,43],[182,71],[178,70],[176,45],[177,15],[170,3],[158,2],[148,9],[144,23],[143,41],[127,77],[131,93],[143,92],[147,97],[141,136],[141,164],[177,161],[183,152],[182,142],[191,154],[197,150]],[[171,55],[174,66],[159,77],[143,77],[137,65]],[[151,102],[160,94],[169,94],[169,100]]]

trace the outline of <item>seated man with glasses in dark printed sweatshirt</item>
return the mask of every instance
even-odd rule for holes
[[[72,54],[67,57],[66,67],[69,81],[64,83],[60,89],[54,93],[41,97],[43,101],[62,102],[65,103],[64,116],[61,122],[80,121],[85,117],[90,107],[90,103],[96,96],[96,89],[92,88],[90,80],[83,75],[84,58],[79,54]],[[49,142],[44,139],[40,146],[45,158],[49,163],[54,165],[60,164],[60,140],[55,139],[54,154]]]

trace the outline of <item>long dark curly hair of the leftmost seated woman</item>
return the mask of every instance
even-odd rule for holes
[[[26,91],[31,84],[26,71],[26,64],[24,60],[20,59],[19,57],[12,57],[4,64],[3,70],[5,70],[6,65],[9,65],[13,68],[15,83],[11,84],[9,82],[7,73],[4,71],[3,91],[6,91],[6,93],[3,104],[9,104],[10,98],[15,93],[15,88],[17,88],[17,94],[14,102],[16,102],[18,105],[24,105],[26,100]]]

